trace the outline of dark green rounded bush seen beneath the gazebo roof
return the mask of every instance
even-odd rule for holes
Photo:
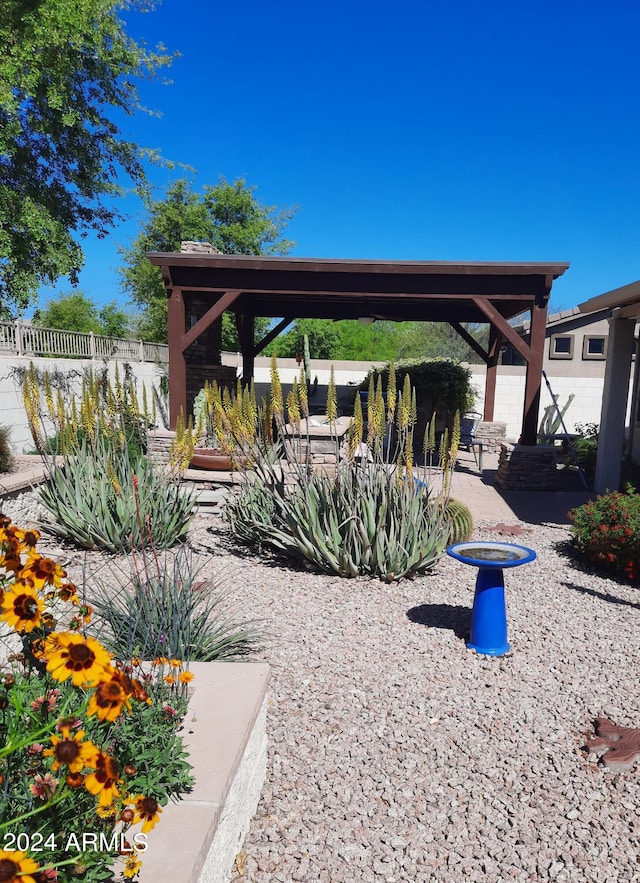
[[[374,382],[382,377],[383,390],[386,391],[390,367],[385,365],[384,368],[372,369],[360,384],[360,389],[369,389],[369,380],[373,376]],[[434,413],[453,415],[459,411],[463,414],[473,407],[475,395],[471,386],[471,372],[463,365],[449,359],[404,359],[395,367],[398,389],[408,375],[416,391],[418,409],[426,414],[427,419]]]

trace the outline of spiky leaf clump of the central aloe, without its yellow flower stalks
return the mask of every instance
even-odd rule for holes
[[[383,464],[343,463],[335,478],[300,469],[296,479],[288,485],[279,467],[261,464],[227,506],[232,532],[326,573],[387,582],[428,570],[447,545],[429,489]]]

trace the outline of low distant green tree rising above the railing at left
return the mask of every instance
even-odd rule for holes
[[[129,319],[115,301],[102,308],[81,291],[72,291],[50,301],[37,310],[33,321],[42,328],[59,328],[62,331],[79,331],[88,334],[105,334],[108,337],[127,337]]]

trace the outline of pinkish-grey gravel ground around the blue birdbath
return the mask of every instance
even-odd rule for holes
[[[640,726],[640,593],[572,563],[567,536],[515,538],[538,559],[505,573],[512,651],[490,658],[465,646],[475,571],[448,556],[344,580],[197,519],[192,545],[271,634],[267,780],[234,883],[640,880],[640,764],[581,749],[597,716]]]

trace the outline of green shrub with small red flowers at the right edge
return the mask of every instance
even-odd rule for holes
[[[631,485],[625,493],[603,494],[573,509],[569,517],[581,557],[629,582],[640,581],[640,496]]]

